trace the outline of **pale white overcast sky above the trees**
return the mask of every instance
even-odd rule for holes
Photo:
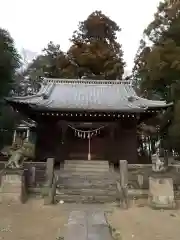
[[[127,69],[131,69],[142,32],[153,19],[159,0],[0,0],[0,27],[22,48],[40,52],[49,41],[69,47],[79,21],[101,10],[122,28],[118,37]]]

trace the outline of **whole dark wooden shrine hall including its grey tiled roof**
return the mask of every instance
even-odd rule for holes
[[[171,104],[137,96],[131,82],[44,78],[35,95],[7,98],[37,123],[36,160],[138,163],[137,126]]]

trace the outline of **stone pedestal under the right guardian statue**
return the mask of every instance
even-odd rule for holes
[[[174,209],[172,178],[149,177],[149,205],[154,209]]]

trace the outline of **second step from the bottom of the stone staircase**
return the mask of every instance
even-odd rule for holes
[[[82,196],[116,196],[117,191],[116,189],[91,189],[91,188],[82,188],[82,189],[56,189],[56,194],[58,195],[82,195]]]

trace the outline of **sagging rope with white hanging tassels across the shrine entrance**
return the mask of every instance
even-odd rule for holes
[[[91,138],[92,136],[96,136],[98,133],[100,133],[100,130],[107,127],[107,125],[101,126],[99,128],[92,129],[92,130],[81,130],[81,129],[77,129],[71,125],[68,125],[68,127],[70,127],[72,130],[74,130],[75,136],[78,136],[80,138]]]

